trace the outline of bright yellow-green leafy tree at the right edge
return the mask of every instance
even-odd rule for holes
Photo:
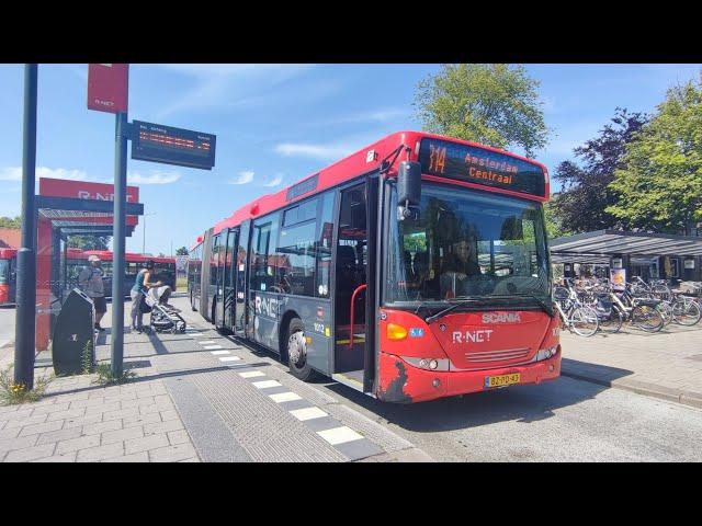
[[[702,73],[668,90],[610,188],[607,211],[641,228],[690,233],[702,220]]]

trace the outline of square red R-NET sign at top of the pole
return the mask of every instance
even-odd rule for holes
[[[129,101],[128,64],[88,65],[88,110],[122,113]]]

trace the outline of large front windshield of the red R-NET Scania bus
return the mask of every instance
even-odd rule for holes
[[[542,205],[423,183],[419,215],[398,220],[390,184],[385,304],[482,296],[547,301],[551,274]]]

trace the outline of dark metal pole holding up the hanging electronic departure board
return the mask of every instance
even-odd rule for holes
[[[127,193],[127,114],[115,116],[114,213],[112,242],[112,375],[122,376],[124,361],[124,238]]]

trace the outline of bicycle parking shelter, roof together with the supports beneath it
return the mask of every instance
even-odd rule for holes
[[[702,237],[596,230],[553,239],[550,249],[551,262],[564,264],[566,276],[580,263],[625,268],[627,276],[648,265],[642,277],[702,281]]]

